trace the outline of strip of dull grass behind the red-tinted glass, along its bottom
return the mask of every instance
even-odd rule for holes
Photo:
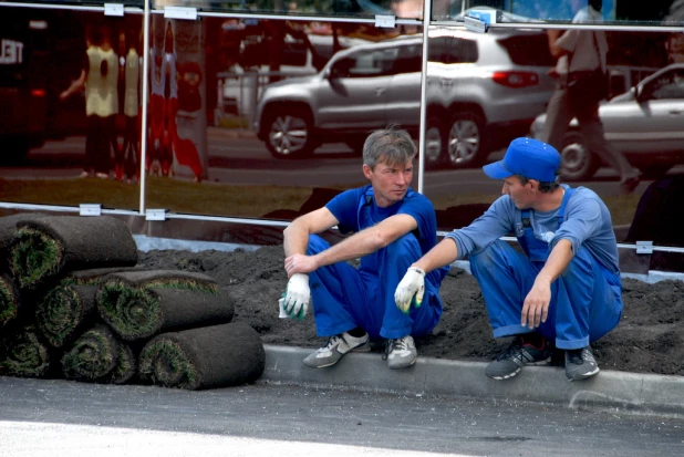
[[[360,179],[359,186],[363,185]],[[343,187],[332,186],[343,189]],[[225,217],[262,217],[277,209],[299,210],[312,188],[296,186],[231,186],[219,183],[189,183],[147,177],[146,208],[173,212]],[[429,194],[427,195],[428,197]],[[491,204],[498,195],[453,194],[435,197],[436,209],[464,204]],[[639,195],[604,198],[613,225],[629,225]],[[103,208],[139,209],[139,186],[100,179],[0,179],[0,201],[79,206],[102,204]]]

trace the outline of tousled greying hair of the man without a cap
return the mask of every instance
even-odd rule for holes
[[[363,164],[371,169],[384,162],[387,165],[404,165],[412,160],[418,149],[411,135],[395,125],[379,129],[369,135],[363,144]]]

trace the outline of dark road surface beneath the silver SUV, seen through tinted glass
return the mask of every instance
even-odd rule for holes
[[[238,136],[220,128],[209,128],[209,180],[231,185],[290,185],[307,187],[354,186],[364,183],[361,157],[343,144],[325,145],[305,160],[278,160],[262,142],[252,135]],[[84,137],[73,136],[48,142],[32,149],[28,163],[18,167],[0,167],[0,178],[73,178],[81,173],[85,159]],[[490,160],[502,152],[493,153]],[[417,174],[413,186],[417,188]],[[589,184],[600,195],[614,195],[619,185],[614,172],[601,169]],[[638,191],[643,191],[642,183]],[[500,183],[487,178],[481,169],[435,170],[425,175],[424,193],[432,198],[454,193],[498,194]]]

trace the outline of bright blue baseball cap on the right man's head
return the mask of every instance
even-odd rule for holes
[[[494,179],[520,175],[541,183],[552,183],[559,167],[560,154],[553,146],[539,139],[516,138],[510,142],[501,160],[485,165],[483,170]]]

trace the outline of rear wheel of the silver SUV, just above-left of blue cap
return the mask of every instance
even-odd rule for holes
[[[452,167],[475,167],[485,162],[484,124],[481,116],[475,113],[459,113],[454,117],[447,138],[447,158]]]

